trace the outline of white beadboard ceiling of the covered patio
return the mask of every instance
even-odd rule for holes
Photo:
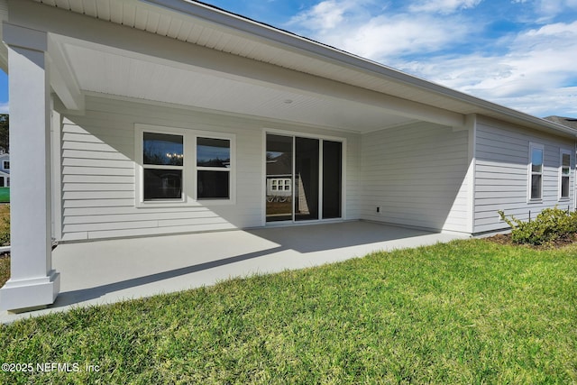
[[[83,91],[353,132],[370,132],[413,120],[349,99],[272,84],[263,86],[94,47],[70,43],[63,47]]]

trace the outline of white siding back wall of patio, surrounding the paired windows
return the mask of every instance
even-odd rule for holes
[[[198,113],[174,106],[87,97],[84,115],[62,112],[61,241],[174,234],[264,225],[265,128],[343,137],[347,141],[347,218],[358,217],[359,156],[356,134],[289,126],[230,115]],[[155,124],[234,133],[236,199],[233,204],[178,207],[135,205],[134,124]],[[185,170],[185,172],[187,172]]]

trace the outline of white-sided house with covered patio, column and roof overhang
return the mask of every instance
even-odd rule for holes
[[[0,309],[54,301],[52,238],[358,220],[475,235],[506,229],[498,210],[575,208],[577,130],[209,5],[0,0],[0,19]]]

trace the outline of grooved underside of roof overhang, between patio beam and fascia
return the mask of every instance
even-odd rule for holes
[[[288,50],[286,46],[280,47],[270,41],[255,39],[254,36],[248,36],[223,25],[193,19],[188,15],[136,0],[33,1],[449,111],[461,114],[476,112],[472,105],[454,98],[426,93],[419,87],[412,87],[396,79],[362,72],[350,66],[343,66],[343,63],[316,58],[307,52]]]

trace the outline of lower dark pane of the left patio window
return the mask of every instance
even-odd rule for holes
[[[144,169],[144,200],[181,198],[182,170]]]

